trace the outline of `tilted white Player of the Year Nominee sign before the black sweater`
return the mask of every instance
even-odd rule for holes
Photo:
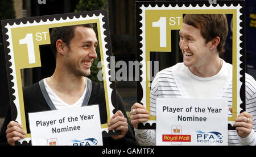
[[[98,105],[28,113],[34,146],[102,146]]]

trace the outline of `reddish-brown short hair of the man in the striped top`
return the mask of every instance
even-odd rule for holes
[[[225,52],[224,46],[228,35],[228,22],[225,14],[186,14],[183,22],[200,28],[206,43],[216,36],[220,37],[217,49],[219,53]]]

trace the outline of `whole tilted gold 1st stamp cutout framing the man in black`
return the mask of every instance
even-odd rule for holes
[[[41,67],[39,46],[51,43],[49,38],[50,28],[86,23],[96,23],[97,25],[106,113],[108,122],[110,122],[110,117],[114,115],[118,108],[115,82],[110,81],[109,64],[112,49],[106,10],[2,20],[12,119],[22,124],[25,131],[27,131],[26,115],[20,69]],[[108,122],[101,124],[103,137],[115,134],[108,130]],[[24,141],[30,143],[30,140],[31,134],[27,134],[26,138],[19,142],[21,144]]]

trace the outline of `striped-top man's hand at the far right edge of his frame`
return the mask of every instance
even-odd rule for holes
[[[229,110],[232,113],[232,108],[230,107]],[[251,133],[253,129],[253,116],[250,113],[244,111],[243,113],[239,114],[238,117],[235,119],[234,127],[238,132],[238,135],[242,138],[246,138]]]

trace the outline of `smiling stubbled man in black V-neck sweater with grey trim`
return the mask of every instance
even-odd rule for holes
[[[101,123],[107,122],[104,87],[90,81],[90,67],[97,58],[97,37],[92,24],[52,28],[51,48],[56,56],[56,68],[51,77],[23,88],[27,131],[30,133],[27,113],[99,104]],[[85,93],[85,94],[84,94]],[[83,100],[81,101],[81,97]],[[121,96],[117,93],[118,111],[109,122],[109,130],[120,135],[104,137],[105,146],[134,146],[137,142],[127,122]],[[11,121],[10,106],[0,135],[1,144],[14,145],[24,138],[23,126]]]

